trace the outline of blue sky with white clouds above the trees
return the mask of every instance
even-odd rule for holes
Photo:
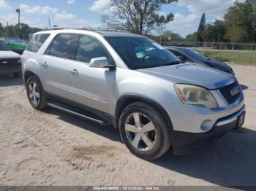
[[[236,0],[178,0],[163,5],[163,15],[170,12],[175,16],[173,22],[165,26],[181,36],[197,31],[200,17],[206,12],[206,22],[222,19]],[[245,1],[245,0],[239,0]],[[110,12],[110,0],[0,0],[0,23],[4,26],[17,24],[20,8],[20,22],[29,26],[46,28],[50,24],[58,26],[97,28],[102,26],[102,12]]]

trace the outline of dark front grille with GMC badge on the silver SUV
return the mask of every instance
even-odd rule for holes
[[[236,87],[239,88],[239,93],[237,93],[236,95],[232,95],[231,91]],[[242,96],[241,88],[238,85],[238,82],[233,82],[230,85],[221,87],[219,88],[219,91],[222,93],[228,104],[233,104],[238,98]]]

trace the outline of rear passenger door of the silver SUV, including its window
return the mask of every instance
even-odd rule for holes
[[[45,91],[48,93],[68,98],[69,64],[75,58],[77,43],[76,34],[58,34],[43,55],[41,71],[45,75]]]

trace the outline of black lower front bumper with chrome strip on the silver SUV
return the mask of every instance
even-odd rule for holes
[[[238,112],[217,120],[214,128],[206,133],[187,133],[173,130],[172,144],[174,155],[187,155],[196,150],[216,144],[228,131],[241,128],[244,124],[245,106]]]

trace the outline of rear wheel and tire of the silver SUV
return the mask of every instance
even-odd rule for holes
[[[34,109],[41,110],[47,106],[45,90],[38,77],[29,77],[26,81],[26,92],[29,98],[29,103]]]

